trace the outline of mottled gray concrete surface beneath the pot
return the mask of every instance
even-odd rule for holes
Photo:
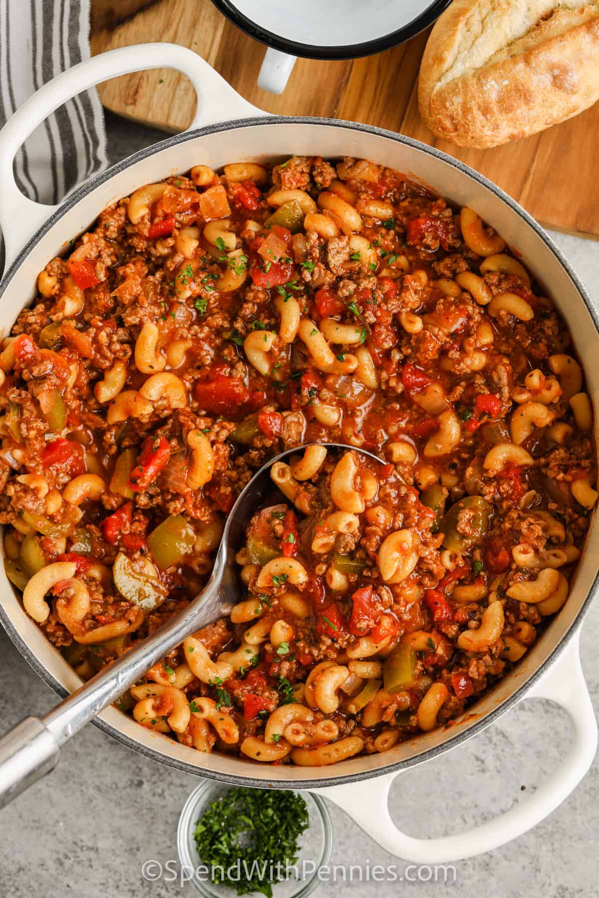
[[[119,119],[108,122],[114,160],[151,143],[153,132]],[[597,245],[555,234],[594,295],[599,296]],[[586,618],[581,654],[595,709],[599,705],[595,646],[599,604]],[[56,697],[0,632],[0,728],[26,713],[43,714]],[[507,810],[523,788],[533,790],[567,751],[566,715],[549,702],[530,701],[478,738],[395,780],[395,821],[420,837],[442,835]],[[194,894],[164,879],[145,881],[142,865],[177,857],[176,826],[197,780],[128,751],[94,726],[67,744],[51,777],[0,812],[0,896],[11,898],[162,898]],[[357,788],[375,788],[371,781]],[[331,863],[397,865],[346,814],[330,806]],[[458,862],[456,882],[365,882],[319,885],[319,898],[578,898],[597,894],[599,764],[595,761],[567,801],[532,832],[480,858]],[[414,876],[413,871],[408,871]],[[426,871],[423,874],[428,876]],[[233,892],[231,893],[234,894]],[[276,892],[275,892],[276,895]]]

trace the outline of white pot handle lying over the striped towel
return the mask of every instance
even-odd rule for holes
[[[51,112],[77,93],[117,75],[147,68],[174,68],[188,76],[198,94],[198,110],[190,128],[268,114],[243,100],[205,59],[176,44],[137,44],[77,63],[40,87],[0,131],[0,227],[4,235],[6,269],[31,234],[58,208],[23,197],[17,187],[13,161],[24,141]]]

